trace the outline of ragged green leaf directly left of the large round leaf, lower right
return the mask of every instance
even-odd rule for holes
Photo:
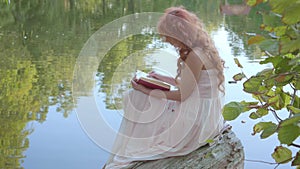
[[[260,137],[267,138],[273,133],[275,133],[276,129],[277,125],[273,122],[259,122],[253,126],[253,135],[263,131]]]

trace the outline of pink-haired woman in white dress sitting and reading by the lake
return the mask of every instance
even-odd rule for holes
[[[124,95],[124,117],[105,165],[122,168],[133,161],[186,155],[224,127],[224,62],[197,16],[183,7],[166,9],[157,29],[177,48],[177,76],[149,76],[177,86],[152,90],[132,80]]]

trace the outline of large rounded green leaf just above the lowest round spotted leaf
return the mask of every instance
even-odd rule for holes
[[[289,124],[280,126],[278,129],[278,140],[281,144],[290,145],[298,138],[300,134],[300,127],[297,124]]]

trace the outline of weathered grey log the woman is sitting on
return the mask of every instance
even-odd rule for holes
[[[134,162],[124,169],[243,169],[244,149],[231,129],[185,156]]]

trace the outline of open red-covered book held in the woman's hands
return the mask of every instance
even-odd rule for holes
[[[150,89],[170,90],[171,85],[161,80],[148,77],[148,74],[138,70],[136,72],[137,83]]]

